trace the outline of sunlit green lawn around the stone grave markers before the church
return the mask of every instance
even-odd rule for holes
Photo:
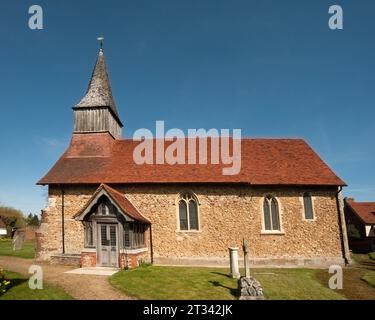
[[[319,270],[252,269],[252,272],[267,299],[345,299],[319,281]],[[139,299],[237,299],[237,281],[227,274],[227,269],[218,268],[150,266],[120,271],[110,282]]]

